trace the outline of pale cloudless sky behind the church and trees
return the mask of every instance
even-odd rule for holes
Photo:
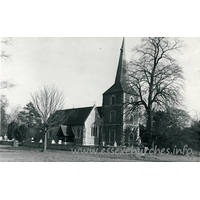
[[[184,102],[192,116],[200,117],[200,38],[185,37],[185,47],[173,56],[183,67]],[[139,37],[125,37],[127,61]],[[65,95],[64,108],[102,105],[102,94],[114,83],[122,37],[14,37],[2,45],[11,55],[1,60],[1,80],[16,86],[2,90],[11,108],[23,108],[31,93],[55,84]]]

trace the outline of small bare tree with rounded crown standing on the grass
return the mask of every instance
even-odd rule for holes
[[[64,94],[63,92],[59,92],[55,85],[44,85],[38,92],[31,94],[31,98],[45,126],[43,152],[46,152],[47,130],[53,125],[52,121],[48,119],[50,116],[54,115],[57,110],[63,108]]]

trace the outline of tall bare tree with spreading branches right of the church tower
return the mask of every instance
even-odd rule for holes
[[[176,59],[175,51],[183,47],[178,38],[143,38],[130,62],[129,85],[135,91],[133,109],[144,108],[147,115],[147,133],[154,146],[153,113],[169,106],[181,104],[183,72]]]

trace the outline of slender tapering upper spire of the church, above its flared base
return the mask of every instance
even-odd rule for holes
[[[125,60],[125,38],[123,38],[122,41],[122,46],[120,49],[120,56],[119,56],[119,63],[118,63],[118,68],[117,68],[117,74],[115,78],[115,84],[120,84],[121,81],[125,78],[126,74],[126,60]]]

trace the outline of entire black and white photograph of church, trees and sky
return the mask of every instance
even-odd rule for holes
[[[1,161],[199,161],[200,38],[1,45]]]

